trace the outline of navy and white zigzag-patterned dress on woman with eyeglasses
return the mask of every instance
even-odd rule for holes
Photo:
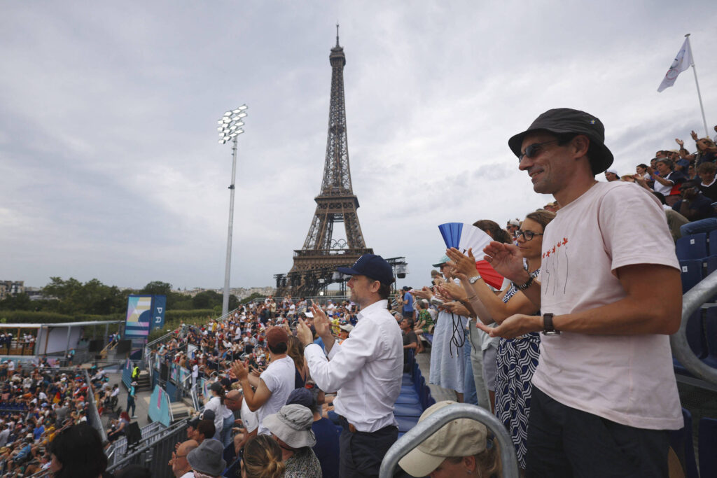
[[[540,269],[531,273],[537,277]],[[508,302],[518,292],[511,283],[503,302]],[[531,379],[540,356],[540,333],[533,332],[521,338],[501,338],[495,355],[495,416],[503,422],[511,434],[518,454],[518,465],[526,467],[526,441],[528,415],[531,411],[533,385]]]

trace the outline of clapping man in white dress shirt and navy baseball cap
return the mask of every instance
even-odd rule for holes
[[[300,320],[297,337],[311,377],[321,390],[338,391],[333,401],[341,416],[341,477],[378,476],[381,460],[398,439],[393,408],[401,392],[403,341],[398,323],[387,310],[394,275],[381,256],[364,254],[353,267],[338,267],[351,275],[351,300],[361,308],[351,336],[334,341],[326,314],[313,305],[316,332],[328,359],[307,325]]]

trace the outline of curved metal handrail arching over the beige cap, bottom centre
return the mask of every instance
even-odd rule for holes
[[[408,454],[409,451],[421,444],[432,434],[435,434],[442,426],[455,419],[473,419],[493,431],[500,446],[500,461],[503,462],[503,477],[518,478],[518,457],[516,447],[513,446],[511,436],[505,430],[505,426],[485,408],[469,405],[467,403],[454,403],[435,411],[426,419],[406,432],[404,436],[394,443],[389,451],[386,451],[381,462],[379,478],[390,478],[399,460]]]

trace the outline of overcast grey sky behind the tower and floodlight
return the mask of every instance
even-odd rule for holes
[[[544,110],[600,118],[621,174],[676,137],[694,148],[692,71],[657,93],[686,33],[717,124],[708,0],[6,0],[1,11],[0,279],[36,287],[52,276],[222,287],[232,151],[216,128],[242,103],[231,285],[275,285],[320,191],[336,21],[359,221],[376,254],[406,257],[399,285],[429,282],[445,249],[437,224],[503,225],[551,200],[507,145]]]

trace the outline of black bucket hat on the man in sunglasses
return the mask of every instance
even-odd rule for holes
[[[590,157],[590,166],[593,174],[602,173],[612,164],[612,153],[605,145],[605,127],[602,121],[589,113],[571,108],[555,108],[547,110],[538,116],[533,124],[523,133],[518,133],[508,140],[511,151],[521,157],[521,145],[523,138],[532,131],[544,130],[551,133],[578,133],[586,135],[594,148],[594,154]],[[591,151],[592,153],[593,151]],[[594,157],[593,157],[594,156]]]

